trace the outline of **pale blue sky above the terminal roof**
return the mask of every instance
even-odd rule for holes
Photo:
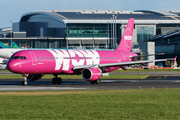
[[[180,10],[178,0],[0,0],[0,28],[36,10]]]

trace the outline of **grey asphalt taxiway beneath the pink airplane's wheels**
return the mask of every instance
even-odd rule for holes
[[[118,74],[124,74],[119,73]],[[83,79],[63,80],[61,85],[53,85],[50,79],[29,81],[27,86],[21,85],[23,79],[0,79],[0,91],[36,91],[36,90],[106,90],[106,89],[157,89],[180,88],[179,72],[128,72],[127,74],[148,74],[153,79],[144,80],[101,80],[98,85],[91,85]],[[0,74],[12,74],[8,71]],[[117,74],[117,73],[113,73]],[[156,77],[158,76],[158,77]]]

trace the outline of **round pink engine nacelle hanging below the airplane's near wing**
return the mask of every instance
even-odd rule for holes
[[[102,72],[99,68],[85,68],[82,71],[82,77],[85,80],[91,80],[91,81],[99,79],[101,77],[101,74]]]

